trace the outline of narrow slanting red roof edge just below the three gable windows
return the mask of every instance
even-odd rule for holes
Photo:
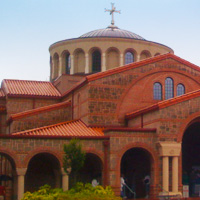
[[[177,103],[187,101],[187,100],[193,99],[195,97],[199,97],[199,96],[200,96],[200,90],[195,90],[195,91],[189,92],[187,94],[177,96],[177,97],[174,97],[172,99],[164,100],[164,101],[158,102],[156,104],[153,104],[151,106],[148,106],[146,108],[142,108],[140,110],[128,113],[128,114],[125,115],[125,118],[126,119],[132,119],[132,118],[137,117],[141,114],[145,114],[145,113],[148,113],[148,112],[152,112],[152,111],[155,111],[155,110],[166,108],[168,106],[175,105]]]

